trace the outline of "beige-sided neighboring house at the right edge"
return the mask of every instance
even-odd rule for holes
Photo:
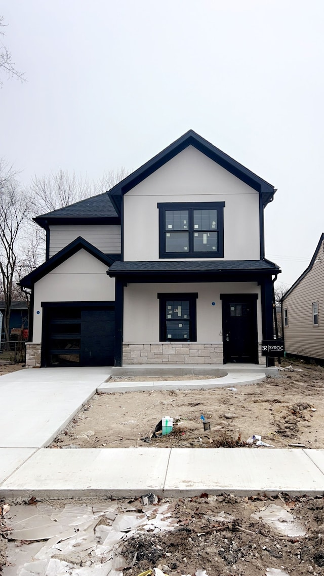
[[[324,233],[309,266],[281,303],[285,351],[324,359]]]

